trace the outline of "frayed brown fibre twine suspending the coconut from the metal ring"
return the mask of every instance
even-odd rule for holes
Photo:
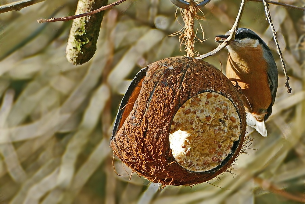
[[[195,32],[194,32],[194,19],[196,17],[197,9],[196,9],[196,3],[191,0],[190,6],[188,9],[184,9],[184,37],[185,39],[185,50],[186,50],[186,56],[187,57],[193,57],[194,56],[194,44],[195,44]]]

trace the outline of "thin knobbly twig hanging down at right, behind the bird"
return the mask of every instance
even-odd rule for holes
[[[264,2],[264,6],[265,6],[266,16],[267,16],[267,19],[268,19],[268,21],[269,21],[270,27],[271,27],[271,29],[272,29],[272,34],[273,34],[273,39],[274,39],[275,44],[276,44],[276,49],[278,50],[278,54],[279,54],[280,59],[281,59],[281,62],[282,62],[282,68],[283,68],[283,70],[284,70],[284,74],[285,74],[285,78],[286,78],[285,87],[287,87],[287,92],[290,94],[292,88],[289,86],[289,82],[288,82],[289,77],[288,77],[288,75],[287,75],[286,65],[285,65],[285,62],[284,62],[284,59],[283,59],[283,55],[282,55],[280,46],[279,46],[279,44],[278,44],[278,38],[276,37],[277,32],[275,31],[274,26],[273,26],[273,23],[272,23],[272,20],[271,20],[271,15],[270,15],[268,3],[266,2],[266,0],[263,0],[263,2]]]

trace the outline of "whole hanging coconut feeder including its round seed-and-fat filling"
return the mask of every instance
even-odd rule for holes
[[[170,57],[135,76],[110,147],[152,182],[194,185],[228,169],[245,132],[244,105],[231,81],[205,61]]]

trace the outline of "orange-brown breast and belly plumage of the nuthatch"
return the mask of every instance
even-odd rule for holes
[[[237,52],[228,54],[226,76],[238,82],[251,105],[252,111],[246,106],[248,112],[253,113],[258,121],[264,120],[272,101],[267,67],[260,45],[240,48]]]

